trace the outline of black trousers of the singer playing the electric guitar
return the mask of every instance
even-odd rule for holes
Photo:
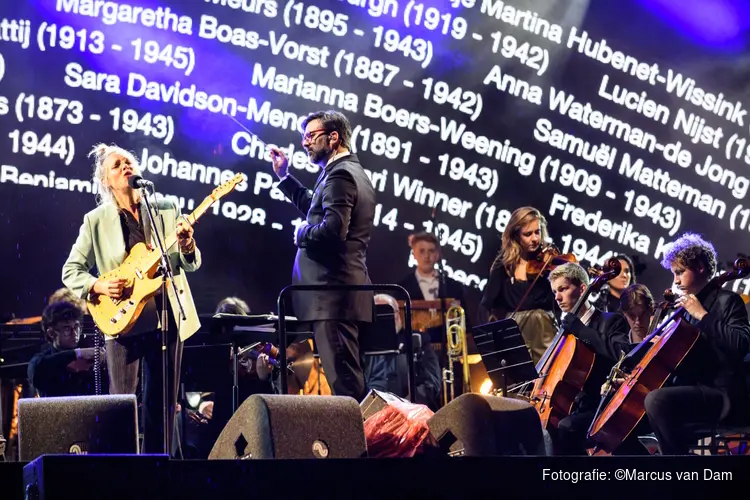
[[[169,310],[167,335],[167,419],[168,447],[172,451],[177,387],[182,364],[182,342]],[[164,406],[162,404],[161,330],[124,335],[107,341],[107,369],[110,394],[135,394],[138,389],[140,363],[144,367],[143,447],[141,453],[164,453]]]

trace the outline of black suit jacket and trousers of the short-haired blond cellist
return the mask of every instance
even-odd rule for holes
[[[556,455],[586,455],[586,449],[595,445],[588,442],[586,434],[601,401],[601,386],[612,366],[620,359],[620,353],[630,351],[629,328],[621,314],[606,313],[596,308],[587,325],[580,318],[566,316],[563,318],[563,326],[591,348],[595,358],[594,367],[583,390],[576,396],[571,414],[562,419],[551,434],[555,441]],[[638,434],[633,433],[614,454],[648,454],[638,442]]]

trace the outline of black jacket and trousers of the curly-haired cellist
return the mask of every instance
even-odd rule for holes
[[[677,368],[671,385],[646,396],[646,415],[662,455],[687,455],[695,430],[717,424],[750,424],[743,360],[750,349],[745,304],[736,293],[713,290],[701,301],[708,311],[697,321],[698,342]]]

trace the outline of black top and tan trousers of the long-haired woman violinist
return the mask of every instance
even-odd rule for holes
[[[506,318],[513,314],[530,286],[531,281],[519,281],[499,265],[490,273],[480,309],[485,315]],[[535,364],[544,356],[557,333],[553,313],[555,308],[555,296],[549,280],[540,276],[513,317]]]

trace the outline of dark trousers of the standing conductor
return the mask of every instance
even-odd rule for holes
[[[336,396],[362,401],[367,395],[359,352],[359,328],[353,321],[314,321],[315,345],[328,385]]]

